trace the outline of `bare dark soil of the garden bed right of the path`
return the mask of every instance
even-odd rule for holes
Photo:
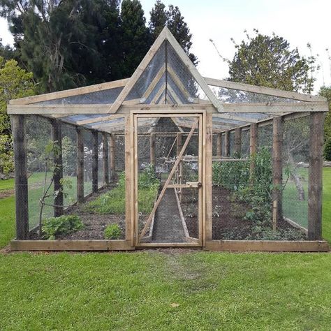
[[[189,199],[183,196],[182,209],[185,216],[186,226],[191,237],[196,237],[198,234],[198,219],[197,213],[189,214],[186,210],[188,205],[193,205],[195,202],[190,202]],[[195,203],[197,205],[197,203]],[[246,212],[251,208],[247,203],[233,200],[233,194],[223,187],[214,186],[212,191],[212,239],[213,240],[268,240],[266,231],[270,235],[270,227],[259,231],[253,221],[244,219]],[[306,236],[297,228],[294,228],[286,221],[281,221],[277,224],[277,238],[270,237],[270,240],[307,240]],[[284,238],[282,238],[284,236]]]

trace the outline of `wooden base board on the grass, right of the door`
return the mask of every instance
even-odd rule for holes
[[[212,240],[209,251],[329,251],[325,241]]]

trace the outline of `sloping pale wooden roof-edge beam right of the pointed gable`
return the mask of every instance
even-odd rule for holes
[[[216,80],[214,78],[205,77],[205,82],[207,82],[208,85],[223,87],[225,89],[237,89],[240,91],[265,94],[268,96],[279,96],[279,98],[288,98],[297,101],[326,101],[326,98],[323,96],[311,96],[309,94],[302,94],[293,91],[283,91],[281,89],[272,89],[270,87],[260,87],[240,82],[230,82],[229,80]]]

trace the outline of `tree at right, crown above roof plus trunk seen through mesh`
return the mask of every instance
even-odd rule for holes
[[[246,31],[245,31],[246,32]],[[257,86],[273,87],[286,91],[301,91],[311,93],[314,89],[315,57],[302,57],[297,48],[290,49],[286,39],[272,34],[265,36],[254,29],[255,36],[251,38],[246,32],[247,41],[237,44],[237,52],[229,64],[229,80],[244,82]],[[233,40],[233,39],[232,39]],[[310,47],[310,45],[307,45]],[[248,98],[248,101],[273,101],[270,96],[240,94],[237,91],[229,93],[230,98]],[[297,173],[297,162],[305,161],[309,131],[305,119],[286,122],[284,127],[284,156],[297,188],[299,200],[304,200],[304,189]]]

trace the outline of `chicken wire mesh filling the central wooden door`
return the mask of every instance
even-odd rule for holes
[[[159,134],[164,132],[164,134]],[[151,134],[155,148],[151,151]],[[140,127],[136,142],[138,160],[138,233],[140,242],[170,243],[198,240],[198,188],[165,190],[154,215],[151,216],[165,181],[175,166],[177,154],[187,138],[182,135],[178,146],[177,126],[168,117],[161,117],[152,132]],[[184,152],[182,162],[175,168],[170,184],[186,184],[198,180],[198,131]],[[154,152],[153,152],[154,151]],[[152,153],[151,153],[152,152]],[[153,153],[155,153],[153,156]],[[155,160],[155,166],[151,165]],[[144,230],[145,229],[145,230]]]

